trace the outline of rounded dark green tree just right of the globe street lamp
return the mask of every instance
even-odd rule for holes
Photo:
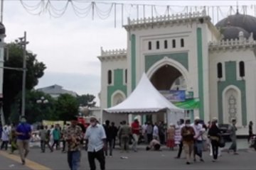
[[[55,113],[58,120],[70,120],[74,115],[78,115],[77,98],[70,94],[61,94],[55,103]]]

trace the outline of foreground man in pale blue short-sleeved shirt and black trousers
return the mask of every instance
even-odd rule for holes
[[[92,116],[90,118],[90,126],[85,132],[85,143],[88,153],[88,161],[90,170],[95,170],[95,159],[100,162],[100,169],[105,170],[106,134],[102,125],[97,123],[97,119]]]

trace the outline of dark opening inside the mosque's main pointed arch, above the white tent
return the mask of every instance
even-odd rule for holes
[[[153,86],[164,96],[169,95],[171,90],[178,91],[187,89],[186,80],[183,77],[183,74],[176,69],[176,67],[171,66],[170,64],[164,64],[159,67],[159,69],[152,74],[150,77],[150,81]],[[154,122],[156,121],[164,121],[166,119],[166,115],[158,114],[156,116],[149,117],[147,119],[151,119]]]

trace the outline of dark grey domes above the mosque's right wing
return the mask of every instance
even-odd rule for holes
[[[256,40],[256,18],[254,16],[236,13],[219,21],[215,26],[220,30],[223,29],[223,35],[228,39],[238,38],[239,32],[242,31],[245,37],[248,33],[249,35],[253,33],[253,39]]]

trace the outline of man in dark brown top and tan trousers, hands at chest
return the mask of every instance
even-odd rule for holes
[[[186,164],[191,164],[191,155],[193,155],[193,142],[195,130],[191,127],[190,119],[186,119],[185,126],[181,128],[181,136],[183,142],[183,148],[186,153]]]

